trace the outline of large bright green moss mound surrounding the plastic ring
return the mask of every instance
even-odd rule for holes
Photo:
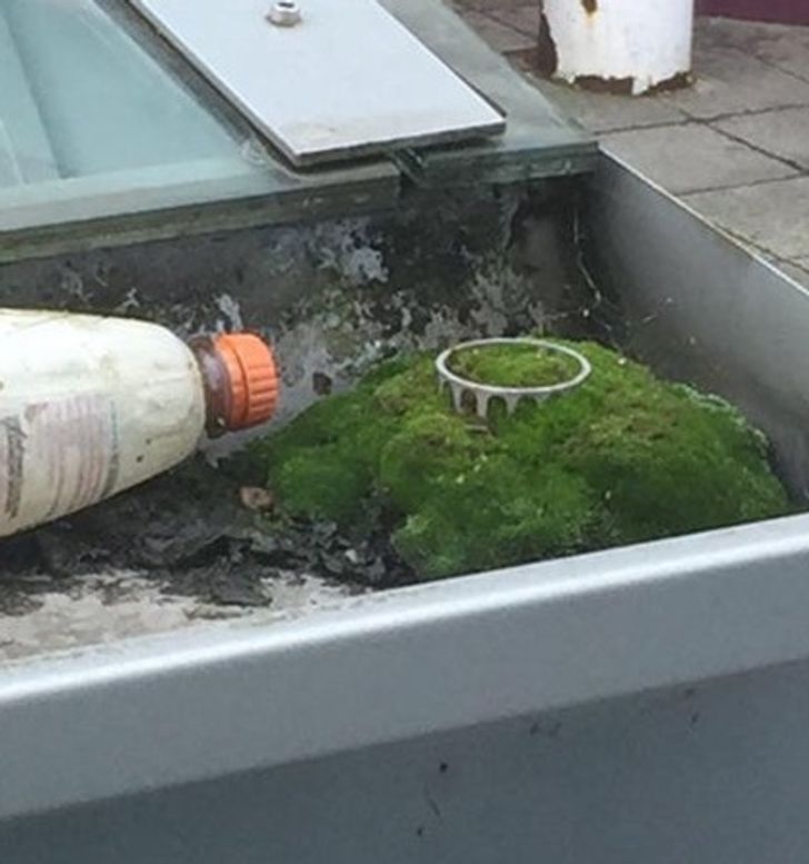
[[[370,527],[383,512],[421,578],[789,510],[766,441],[736,409],[600,346],[576,347],[590,378],[512,416],[455,414],[432,358],[417,356],[319,403],[251,457],[290,515]]]

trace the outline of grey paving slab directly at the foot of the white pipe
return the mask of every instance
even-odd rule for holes
[[[685,122],[688,116],[653,96],[591,93],[566,83],[532,78],[533,85],[568,117],[591,132]]]

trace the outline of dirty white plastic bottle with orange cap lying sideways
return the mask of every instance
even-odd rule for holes
[[[0,309],[0,537],[136,486],[204,435],[269,419],[270,348],[142,321]]]

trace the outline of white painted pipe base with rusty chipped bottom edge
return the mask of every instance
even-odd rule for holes
[[[553,75],[570,83],[639,96],[691,69],[693,0],[545,0],[545,17]]]

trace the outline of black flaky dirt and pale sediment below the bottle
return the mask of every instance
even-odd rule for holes
[[[30,616],[59,595],[114,606],[138,592],[152,606],[189,598],[190,617],[283,612],[409,580],[387,536],[272,524],[263,506],[246,506],[244,488],[227,469],[193,461],[0,542],[0,617]]]

